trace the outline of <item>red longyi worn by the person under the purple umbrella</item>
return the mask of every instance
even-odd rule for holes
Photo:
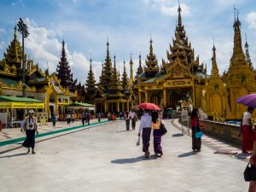
[[[256,140],[256,133],[249,125],[241,126],[242,151],[253,151],[253,141]]]

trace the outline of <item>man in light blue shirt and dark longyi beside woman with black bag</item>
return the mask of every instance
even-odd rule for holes
[[[141,117],[141,124],[139,127],[138,131],[138,137],[141,136],[141,133],[143,132],[143,152],[145,153],[145,157],[148,158],[149,156],[149,141],[150,141],[150,134],[151,134],[151,128],[150,128],[150,123],[151,123],[152,117],[148,113],[148,110],[145,110],[145,113]]]

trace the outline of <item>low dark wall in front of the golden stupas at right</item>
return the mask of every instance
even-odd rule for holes
[[[230,125],[209,120],[200,120],[200,122],[205,125],[203,131],[207,134],[229,143],[241,145],[241,137],[239,137],[240,125]]]

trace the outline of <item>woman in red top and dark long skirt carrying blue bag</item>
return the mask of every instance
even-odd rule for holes
[[[194,152],[201,151],[201,137],[196,138],[195,132],[201,131],[201,123],[199,122],[199,110],[198,108],[193,108],[191,113],[191,127],[192,127],[192,149]]]

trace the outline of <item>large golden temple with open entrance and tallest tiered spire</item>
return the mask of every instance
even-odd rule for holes
[[[162,60],[159,66],[152,38],[144,68],[140,57],[135,79],[139,103],[154,102],[161,108],[176,108],[179,102],[186,101],[193,103],[194,107],[201,107],[206,69],[203,64],[199,64],[199,57],[195,58],[194,49],[184,30],[181,10],[178,6],[175,37],[167,50],[167,61]]]

